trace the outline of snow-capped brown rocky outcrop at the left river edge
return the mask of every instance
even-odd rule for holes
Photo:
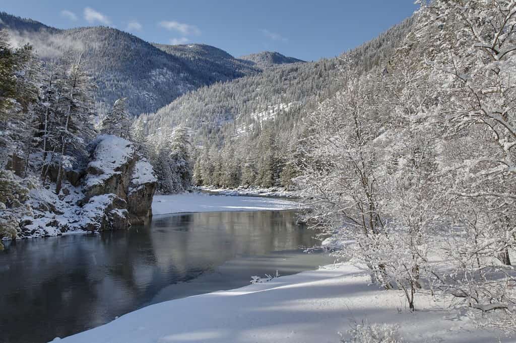
[[[23,218],[17,238],[127,229],[152,216],[156,178],[127,140],[99,136],[86,167],[67,170],[65,177],[59,194],[51,185],[30,192],[33,211]]]

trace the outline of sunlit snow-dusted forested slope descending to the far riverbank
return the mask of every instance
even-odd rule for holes
[[[142,114],[136,126],[155,142],[166,140],[175,127],[190,128],[197,184],[287,186],[296,175],[288,166],[307,129],[302,119],[340,90],[344,65],[358,74],[375,67],[388,72],[389,59],[412,23],[409,18],[336,58],[279,64],[200,88],[156,113]],[[251,59],[267,60],[260,56]]]

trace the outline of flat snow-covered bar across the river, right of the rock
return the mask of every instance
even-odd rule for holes
[[[298,209],[294,201],[273,198],[210,195],[203,193],[183,193],[155,195],[152,214],[214,211],[267,211]]]

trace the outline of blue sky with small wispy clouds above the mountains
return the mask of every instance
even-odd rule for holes
[[[2,0],[0,10],[58,28],[107,25],[150,42],[205,43],[333,57],[410,16],[413,0]]]

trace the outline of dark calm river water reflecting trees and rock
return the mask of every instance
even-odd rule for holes
[[[295,211],[156,216],[148,227],[5,242],[0,342],[45,342],[152,303],[332,262]]]

